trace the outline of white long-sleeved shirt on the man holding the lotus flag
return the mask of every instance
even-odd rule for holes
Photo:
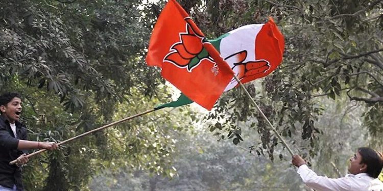
[[[300,166],[297,172],[308,187],[317,191],[368,191],[371,181],[374,179],[369,177],[367,173],[348,174],[342,178],[327,178],[318,176],[307,165]]]

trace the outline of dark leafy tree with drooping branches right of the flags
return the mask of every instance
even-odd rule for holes
[[[381,1],[203,1],[192,9],[197,24],[216,37],[238,26],[275,18],[285,37],[282,64],[262,81],[248,85],[262,111],[284,135],[301,131],[314,146],[321,129],[315,125],[322,113],[318,98],[327,96],[361,102],[364,124],[371,134],[382,132],[383,96]],[[257,119],[250,126],[262,137],[261,148],[273,157],[278,142],[267,124],[240,89],[220,99],[207,120],[217,134],[242,141],[238,121]],[[312,154],[315,154],[312,152]]]

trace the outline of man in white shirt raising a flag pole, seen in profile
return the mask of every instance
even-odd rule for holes
[[[358,148],[353,157],[350,158],[348,171],[350,174],[342,178],[327,178],[318,176],[310,170],[306,162],[299,156],[294,155],[292,163],[298,167],[298,174],[303,182],[310,188],[321,190],[380,190],[382,182],[376,179],[383,168],[383,157],[373,149]],[[378,182],[376,182],[378,181]],[[381,184],[381,185],[376,185]],[[372,186],[374,186],[372,188]],[[378,188],[378,189],[376,189]]]

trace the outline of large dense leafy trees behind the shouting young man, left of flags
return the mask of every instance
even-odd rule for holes
[[[156,4],[31,0],[0,7],[0,87],[25,96],[31,140],[63,141],[169,98],[159,72],[143,61]],[[174,144],[166,131],[177,119],[155,121],[164,114],[32,160],[27,189],[85,190],[95,172],[121,166],[169,175]]]

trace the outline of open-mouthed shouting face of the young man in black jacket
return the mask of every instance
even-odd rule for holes
[[[15,123],[15,121],[19,120],[21,109],[21,99],[18,97],[14,97],[7,105],[0,106],[3,116],[6,117],[10,123]]]

